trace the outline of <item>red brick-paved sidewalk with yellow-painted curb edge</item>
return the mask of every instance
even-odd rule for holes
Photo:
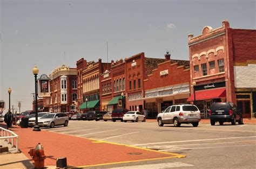
[[[56,158],[66,157],[68,166],[78,167],[124,161],[140,161],[185,157],[183,155],[159,152],[139,147],[98,142],[96,140],[63,135],[49,131],[32,131],[31,128],[12,128],[19,136],[19,149],[31,159],[28,152],[38,143],[44,146],[45,166],[56,165]],[[135,154],[129,154],[135,153]],[[137,154],[136,154],[137,153]]]

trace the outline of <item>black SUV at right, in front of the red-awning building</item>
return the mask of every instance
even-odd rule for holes
[[[219,102],[213,103],[209,111],[211,125],[215,125],[215,122],[219,122],[223,125],[224,122],[231,122],[232,125],[242,123],[242,114],[237,106],[232,102]]]

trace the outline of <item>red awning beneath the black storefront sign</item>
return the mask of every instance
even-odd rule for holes
[[[226,88],[217,88],[209,90],[196,91],[196,100],[207,100],[211,98],[223,98],[226,97]],[[192,94],[187,101],[193,101],[194,94]]]

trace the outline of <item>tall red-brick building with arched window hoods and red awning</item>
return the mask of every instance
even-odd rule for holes
[[[217,29],[205,26],[197,37],[188,35],[191,84],[196,82],[191,93],[196,90],[199,109],[206,112],[213,102],[227,101],[237,104],[243,117],[252,116],[255,45],[255,30],[232,29],[227,20]],[[193,100],[192,94],[188,101]]]

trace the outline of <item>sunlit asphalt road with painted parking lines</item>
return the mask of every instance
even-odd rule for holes
[[[185,158],[114,164],[99,168],[255,168],[256,125],[199,123],[159,127],[156,122],[70,121],[68,127],[43,129],[78,137],[183,154]],[[118,150],[117,150],[118,151]],[[118,158],[118,157],[117,157]],[[128,166],[128,167],[127,167]]]

